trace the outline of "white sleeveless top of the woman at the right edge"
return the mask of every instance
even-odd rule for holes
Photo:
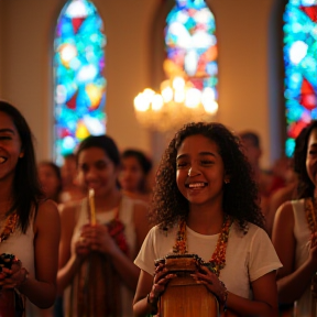
[[[294,236],[296,239],[296,250],[295,250],[295,269],[307,261],[309,256],[310,249],[310,230],[305,215],[305,199],[293,200],[293,212],[294,212]],[[310,285],[303,293],[300,298],[295,302],[294,317],[310,317],[311,310],[311,294]]]

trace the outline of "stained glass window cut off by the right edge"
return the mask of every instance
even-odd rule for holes
[[[317,0],[289,0],[283,20],[285,151],[292,156],[300,130],[317,119]]]

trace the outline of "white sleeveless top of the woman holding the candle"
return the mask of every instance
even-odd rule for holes
[[[135,234],[135,227],[133,222],[133,211],[134,211],[134,205],[140,204],[140,200],[135,200],[132,198],[129,198],[127,196],[122,196],[121,199],[121,205],[120,205],[120,210],[119,210],[119,219],[122,221],[124,225],[124,233],[127,237],[127,242],[129,245],[129,254],[131,258],[131,261],[134,260],[136,250],[136,234]],[[117,209],[117,208],[116,208]],[[96,214],[96,220],[99,223],[107,223],[114,219],[114,212],[116,209],[107,211],[107,212],[97,212]],[[87,198],[83,199],[81,203],[81,208],[79,210],[78,215],[78,221],[77,225],[74,229],[73,238],[72,238],[72,254],[75,253],[75,243],[78,241],[79,236],[80,236],[80,228],[88,223],[88,210],[87,210]],[[122,317],[133,317],[133,310],[132,310],[132,303],[133,303],[133,297],[134,297],[134,292],[129,289],[123,283],[121,284],[121,303],[122,303]],[[67,311],[68,303],[69,303],[69,296],[70,296],[70,287],[67,287],[64,291],[64,308],[65,311]]]

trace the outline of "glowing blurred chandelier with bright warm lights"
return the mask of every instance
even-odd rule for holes
[[[146,129],[166,132],[189,121],[210,121],[218,110],[215,89],[195,88],[185,76],[161,84],[161,91],[146,88],[134,98],[138,121]]]

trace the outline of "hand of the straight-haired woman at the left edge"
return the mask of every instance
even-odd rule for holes
[[[20,260],[13,260],[11,269],[2,267],[0,273],[0,285],[2,289],[20,287],[28,280],[28,271],[22,266]]]

